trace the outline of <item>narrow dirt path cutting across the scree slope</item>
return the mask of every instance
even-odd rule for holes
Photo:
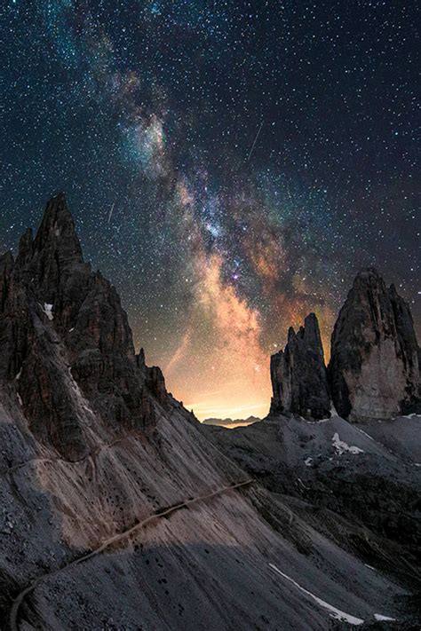
[[[71,561],[70,563],[63,565],[63,567],[60,567],[58,570],[47,572],[43,574],[42,576],[38,576],[38,578],[33,580],[31,583],[29,583],[28,587],[23,589],[20,592],[20,594],[16,596],[16,598],[14,599],[12,603],[10,618],[9,618],[10,630],[19,631],[18,614],[19,614],[20,605],[23,603],[25,597],[28,596],[28,594],[33,592],[38,587],[38,585],[41,583],[42,580],[48,579],[51,576],[56,576],[57,574],[60,574],[60,572],[65,572],[66,570],[68,570],[68,568],[72,567],[73,565],[81,564],[84,561],[88,561],[88,559],[93,558],[94,556],[98,556],[101,552],[103,552],[106,548],[111,546],[113,543],[119,543],[120,541],[126,539],[127,537],[130,537],[130,535],[133,532],[136,532],[140,530],[141,528],[144,528],[146,525],[150,524],[156,519],[160,519],[161,517],[167,517],[168,515],[171,515],[171,513],[174,513],[176,510],[188,508],[189,506],[192,506],[192,504],[197,504],[200,501],[211,500],[217,495],[221,495],[222,493],[226,493],[228,491],[233,491],[234,489],[238,489],[241,486],[248,486],[253,481],[254,480],[252,479],[243,480],[242,482],[237,482],[234,485],[223,486],[222,488],[218,489],[217,491],[213,491],[212,493],[207,493],[206,495],[199,495],[198,497],[193,498],[193,500],[181,501],[179,504],[175,504],[174,506],[170,506],[166,509],[158,509],[157,512],[155,512],[153,515],[150,515],[149,517],[146,517],[141,522],[139,522],[139,524],[133,525],[131,526],[131,528],[128,528],[128,530],[119,532],[118,534],[115,534],[110,539],[107,539],[106,541],[104,541],[104,543],[102,543],[99,546],[99,548],[95,548],[94,550],[92,550],[86,555],[79,556],[74,561]]]

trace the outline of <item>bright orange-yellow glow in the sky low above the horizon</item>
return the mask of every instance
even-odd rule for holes
[[[219,256],[198,256],[190,319],[164,375],[174,396],[201,421],[265,416],[271,385],[260,316],[223,282],[221,268]],[[203,321],[209,323],[206,345],[195,326]]]

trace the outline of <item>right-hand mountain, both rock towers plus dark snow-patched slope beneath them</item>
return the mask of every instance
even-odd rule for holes
[[[369,567],[408,581],[419,595],[418,357],[409,306],[375,270],[364,270],[339,313],[328,370],[310,314],[271,358],[268,418],[206,435],[318,532],[334,533]]]

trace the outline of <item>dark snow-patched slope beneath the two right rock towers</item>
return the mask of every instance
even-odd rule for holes
[[[421,416],[310,422],[272,416],[247,428],[206,428],[230,458],[267,490],[334,525],[343,545],[370,565],[421,578]],[[286,500],[288,498],[288,500]]]

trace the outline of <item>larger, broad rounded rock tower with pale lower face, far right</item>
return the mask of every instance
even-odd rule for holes
[[[330,390],[338,414],[385,419],[415,406],[418,352],[409,305],[376,270],[359,273],[332,335]]]

